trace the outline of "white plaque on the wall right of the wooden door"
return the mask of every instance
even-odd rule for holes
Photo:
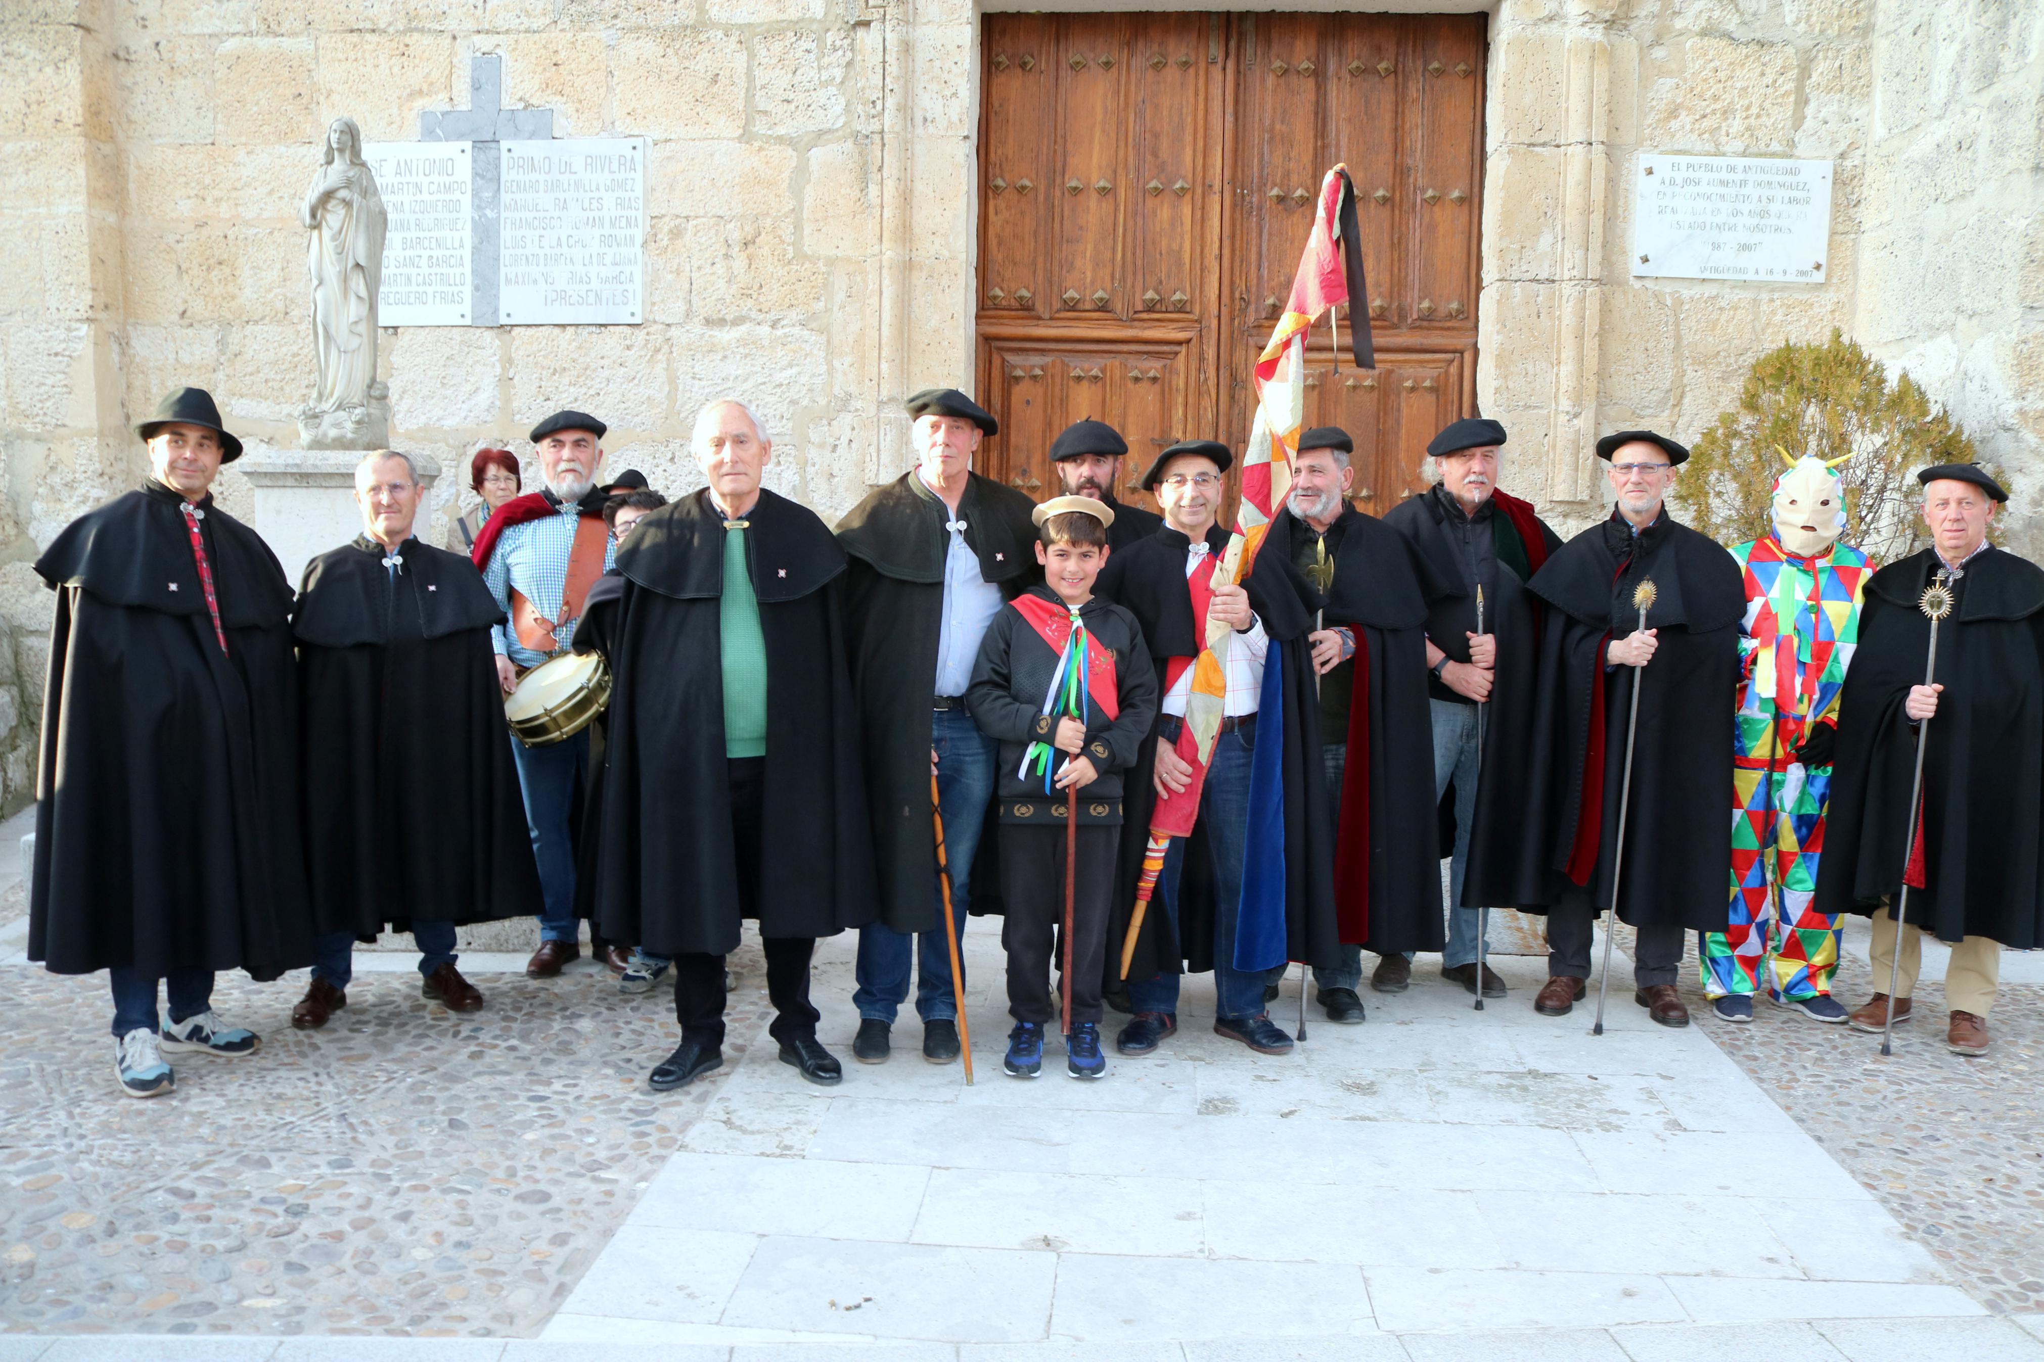
[[[1831,161],[1641,155],[1633,278],[1823,284]]]

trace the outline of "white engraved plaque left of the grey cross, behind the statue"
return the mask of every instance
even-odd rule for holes
[[[388,214],[378,325],[468,325],[474,202],[468,157],[464,141],[362,145]]]

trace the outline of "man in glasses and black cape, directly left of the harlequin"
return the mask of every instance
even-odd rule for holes
[[[1525,715],[1500,709],[1488,735],[1494,751],[1523,753],[1523,805],[1517,819],[1478,815],[1461,901],[1547,915],[1547,984],[1535,1011],[1562,1017],[1586,996],[1592,925],[1613,907],[1637,684],[1617,915],[1637,929],[1633,1001],[1660,1025],[1686,1027],[1674,986],[1684,933],[1725,921],[1723,811],[1746,586],[1721,545],[1664,506],[1688,449],[1654,431],[1619,431],[1596,441],[1596,455],[1611,464],[1617,508],[1527,584],[1547,617],[1535,700]],[[1641,582],[1656,590],[1645,629],[1633,606]]]

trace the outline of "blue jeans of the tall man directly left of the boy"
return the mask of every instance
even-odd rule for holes
[[[979,829],[993,798],[993,762],[1000,747],[979,731],[965,709],[930,713],[930,745],[936,747],[936,807],[944,815],[944,864],[950,866],[950,913],[965,939],[965,905],[973,901],[973,856],[979,852]],[[934,870],[934,868],[932,868]],[[944,921],[944,888],[930,876],[930,896],[936,898],[936,919]],[[910,935],[916,950],[910,952]],[[916,960],[916,1013],[924,1021],[957,1021],[959,1001],[950,992],[950,945],[944,929],[908,933],[887,923],[858,929],[858,990],[852,1007],[861,1019],[893,1025],[895,1013],[908,1001],[910,958]],[[965,954],[959,954],[965,972]]]

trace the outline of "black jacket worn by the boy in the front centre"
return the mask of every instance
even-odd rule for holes
[[[1024,598],[1063,602],[1049,586],[1032,586]],[[1044,694],[1057,674],[1061,653],[1044,641],[1022,617],[1020,602],[1002,606],[979,643],[979,664],[965,704],[973,711],[979,731],[1002,745],[995,805],[1002,823],[1063,823],[1061,792],[1044,790],[1044,776],[1022,776],[1022,756],[1034,741],[1051,741],[1057,719],[1042,713]],[[1100,778],[1079,792],[1079,823],[1112,825],[1122,821],[1122,772],[1136,764],[1143,739],[1157,721],[1157,670],[1136,617],[1118,604],[1094,596],[1079,606],[1079,619],[1098,647],[1114,660],[1114,692],[1120,713],[1110,721],[1100,709],[1085,725],[1085,756]],[[1057,774],[1065,753],[1051,758]]]

